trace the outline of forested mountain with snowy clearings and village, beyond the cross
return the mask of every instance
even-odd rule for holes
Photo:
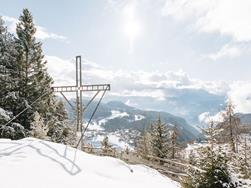
[[[73,111],[67,104],[66,107],[70,118],[74,119]],[[88,121],[91,117],[94,107],[95,103],[90,105],[84,113],[85,121]],[[157,120],[158,115],[168,127],[177,126],[179,141],[191,141],[199,137],[199,132],[183,118],[166,112],[144,111],[125,105],[122,102],[112,101],[101,103],[86,133],[87,141],[99,145],[103,138],[108,136],[113,145],[119,148],[125,148],[126,146],[132,148],[135,139],[152,122]]]

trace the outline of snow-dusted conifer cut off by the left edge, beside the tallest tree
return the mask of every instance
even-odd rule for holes
[[[0,138],[20,139],[26,136],[24,127],[19,123],[7,124],[19,102],[17,73],[14,36],[7,31],[0,17]]]

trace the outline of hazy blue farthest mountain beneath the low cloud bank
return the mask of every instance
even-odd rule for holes
[[[184,118],[193,126],[200,126],[198,116],[204,112],[215,114],[223,110],[226,95],[210,93],[203,89],[166,89],[163,100],[144,96],[112,96],[112,100],[128,103],[140,109],[164,111]],[[110,99],[109,99],[110,100]]]

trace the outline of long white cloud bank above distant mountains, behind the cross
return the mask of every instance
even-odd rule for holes
[[[48,71],[55,85],[75,85],[75,60],[64,60],[55,56],[46,56]],[[87,84],[111,83],[112,91],[107,93],[115,97],[149,97],[154,100],[166,100],[173,91],[186,89],[204,90],[221,96],[230,96],[236,106],[236,112],[251,112],[251,83],[222,81],[202,81],[190,78],[183,71],[143,72],[106,70],[101,66],[82,58],[83,82]],[[175,94],[175,92],[174,92]],[[131,103],[132,101],[128,101]],[[217,109],[216,109],[217,110]]]

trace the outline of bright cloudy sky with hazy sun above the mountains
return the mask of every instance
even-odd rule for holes
[[[250,0],[0,0],[9,30],[28,8],[56,84],[111,82],[114,95],[164,100],[163,88],[231,95],[251,112]],[[60,68],[60,69],[59,69]]]

